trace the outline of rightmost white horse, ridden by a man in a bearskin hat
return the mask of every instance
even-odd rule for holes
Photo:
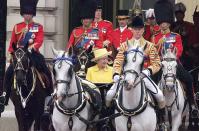
[[[162,77],[159,87],[163,90],[166,101],[166,110],[170,129],[178,131],[182,124],[182,118],[188,112],[188,105],[185,105],[183,86],[176,78],[177,50],[162,49]],[[186,108],[185,108],[186,106]],[[186,109],[186,111],[185,111]]]

